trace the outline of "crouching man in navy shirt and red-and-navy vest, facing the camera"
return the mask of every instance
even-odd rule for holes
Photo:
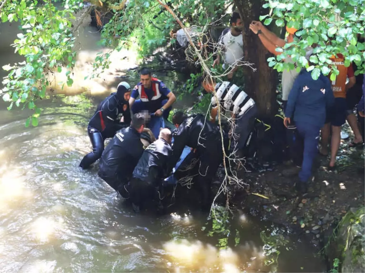
[[[149,68],[144,67],[139,73],[141,82],[134,87],[129,99],[132,113],[148,111],[154,113],[155,116],[163,116],[167,119],[172,104],[176,101],[174,93],[162,81],[152,78],[152,72]],[[138,97],[139,100],[137,100]]]

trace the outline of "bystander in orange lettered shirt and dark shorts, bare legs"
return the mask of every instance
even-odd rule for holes
[[[335,104],[334,107],[327,112],[326,124],[322,128],[322,143],[319,152],[322,155],[328,154],[328,142],[332,127],[331,160],[329,167],[330,169],[333,169],[335,167],[336,156],[341,141],[341,126],[346,122],[346,91],[356,83],[356,78],[352,64],[349,67],[344,65],[345,58],[342,54],[336,54],[330,59],[333,62],[333,65],[337,66],[339,74],[334,81],[331,81]],[[349,78],[348,83],[346,83],[347,78]]]

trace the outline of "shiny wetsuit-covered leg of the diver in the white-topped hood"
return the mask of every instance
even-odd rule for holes
[[[83,169],[87,169],[93,164],[96,160],[101,157],[101,154],[104,151],[104,137],[101,135],[101,132],[95,128],[88,127],[88,135],[92,144],[92,152],[88,153],[84,156],[84,158],[80,162],[80,167]]]

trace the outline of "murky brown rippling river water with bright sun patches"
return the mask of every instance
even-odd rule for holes
[[[9,47],[17,26],[0,27],[0,65],[21,61]],[[38,102],[38,127],[24,127],[27,109],[7,111],[0,102],[0,272],[324,272],[311,243],[283,227],[222,208],[210,220],[194,206],[135,214],[98,178],[97,164],[78,168],[91,150],[88,118],[135,62],[121,52],[100,79],[84,81],[99,39],[92,27],[81,30],[74,86],[61,91],[55,81],[50,98]],[[278,265],[269,265],[270,241],[284,238]]]

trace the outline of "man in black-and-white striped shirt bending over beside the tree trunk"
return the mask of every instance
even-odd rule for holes
[[[257,115],[255,101],[234,83],[221,82],[216,84],[212,77],[207,75],[203,77],[205,91],[212,93],[215,90],[219,100],[217,102],[215,96],[212,96],[211,122],[215,122],[218,106],[221,107],[221,113],[229,112],[236,125],[234,131],[232,128],[230,129],[230,136],[236,136],[233,137],[235,149],[240,151],[245,147],[247,137],[255,124]]]

